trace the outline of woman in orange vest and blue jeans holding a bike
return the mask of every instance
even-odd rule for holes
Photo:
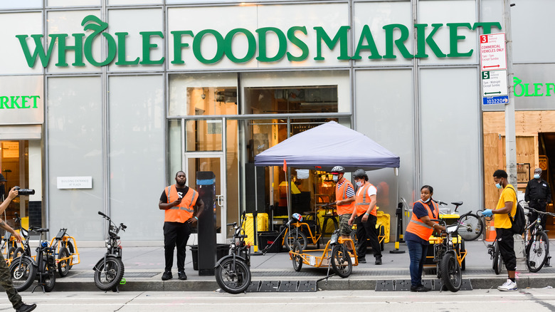
[[[424,185],[420,189],[420,200],[413,204],[411,222],[408,222],[405,232],[408,255],[411,257],[409,270],[411,271],[411,291],[430,291],[422,285],[422,270],[428,251],[429,239],[433,231],[444,231],[445,227],[432,219],[438,219],[439,207],[432,199],[433,187]]]

